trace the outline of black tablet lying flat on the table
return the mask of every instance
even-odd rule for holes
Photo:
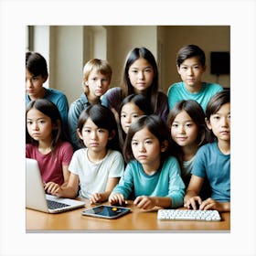
[[[81,214],[97,218],[116,219],[129,213],[130,211],[130,208],[101,205],[95,208],[85,209],[81,212]]]

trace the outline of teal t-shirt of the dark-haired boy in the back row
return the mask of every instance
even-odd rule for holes
[[[218,83],[203,82],[200,91],[191,93],[187,91],[183,81],[176,82],[167,91],[169,109],[171,110],[177,101],[194,100],[206,111],[209,99],[219,91],[223,91],[223,88]]]

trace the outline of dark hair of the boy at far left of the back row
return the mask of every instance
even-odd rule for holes
[[[48,77],[48,65],[46,59],[37,52],[26,53],[26,69],[34,76]]]

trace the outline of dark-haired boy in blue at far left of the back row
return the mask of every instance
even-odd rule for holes
[[[63,132],[68,133],[69,102],[63,92],[43,87],[48,80],[48,66],[46,59],[37,52],[26,53],[26,105],[29,101],[47,99],[59,109]]]

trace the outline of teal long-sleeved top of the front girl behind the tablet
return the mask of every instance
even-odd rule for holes
[[[175,157],[170,156],[154,175],[144,173],[143,165],[133,160],[128,163],[119,184],[112,194],[121,193],[127,199],[131,194],[134,198],[171,197],[171,208],[181,207],[185,195],[185,185],[180,176],[180,167]],[[133,198],[133,199],[134,199]]]

